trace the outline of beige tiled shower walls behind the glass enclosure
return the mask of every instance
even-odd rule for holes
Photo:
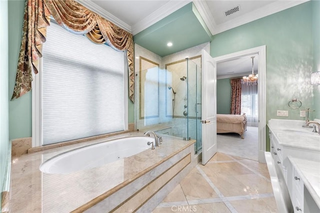
[[[200,114],[200,108],[201,108],[201,100],[197,99],[195,100],[195,74],[189,75],[188,79],[188,102],[187,102],[187,96],[186,96],[186,81],[179,80],[180,77],[186,76],[186,67],[184,69],[177,69],[177,71],[172,72],[172,84],[171,86],[176,92],[175,95],[175,106],[174,106],[174,118],[172,118],[172,98],[173,93],[171,90],[167,88],[166,85],[166,79],[170,80],[170,76],[166,76],[165,71],[165,64],[172,63],[175,61],[183,60],[185,57],[193,57],[196,55],[201,55],[201,50],[204,49],[207,52],[209,52],[210,44],[203,43],[167,56],[160,57],[159,55],[156,55],[155,53],[139,46],[138,44],[135,44],[135,89],[136,89],[136,98],[135,98],[135,121],[136,121],[136,128],[139,130],[143,129],[151,129],[151,130],[163,130],[163,132],[168,133],[169,135],[173,136],[179,136],[179,137],[186,137],[187,136],[187,125],[189,129],[193,129],[192,131],[189,131],[189,137],[196,139],[196,128],[195,124],[196,122],[199,122],[199,119],[189,119],[187,123],[186,116],[184,118],[183,116],[183,110],[184,104],[189,104],[188,106],[188,113],[190,116],[195,117],[195,110],[194,110],[194,104],[198,104],[198,114]],[[158,93],[158,105],[154,105],[154,102],[148,103],[148,97],[146,96],[144,98],[144,105],[145,107],[158,107],[159,114],[156,117],[151,118],[140,118],[140,111],[139,111],[139,56],[142,56],[144,58],[147,58],[148,60],[151,60],[155,63],[159,64],[159,93]],[[200,59],[196,59],[195,62],[198,63]],[[184,63],[186,66],[186,63]],[[190,66],[192,65],[192,62],[189,62]],[[192,67],[192,68],[194,68]],[[198,66],[199,67],[199,66]],[[180,76],[181,75],[181,76]],[[171,77],[172,77],[171,76]],[[200,77],[200,76],[197,76]],[[198,86],[198,88],[201,88],[201,86]],[[190,92],[192,91],[192,92]],[[197,94],[200,97],[201,91],[200,89],[197,90]],[[156,94],[153,94],[156,95]],[[193,98],[193,99],[192,99]],[[149,98],[151,99],[154,98]],[[142,100],[142,99],[141,99]],[[145,109],[144,109],[145,110]],[[143,115],[142,115],[143,116]],[[166,129],[166,130],[165,130]],[[198,132],[200,133],[199,128],[197,128]]]

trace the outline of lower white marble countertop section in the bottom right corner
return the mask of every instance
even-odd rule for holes
[[[288,156],[305,187],[320,208],[320,162]]]

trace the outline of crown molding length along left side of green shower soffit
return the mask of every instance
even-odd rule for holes
[[[131,27],[132,34],[135,35],[139,33],[143,29],[146,29],[189,2],[191,2],[191,0],[169,0],[167,3],[159,7],[145,18],[133,24]]]

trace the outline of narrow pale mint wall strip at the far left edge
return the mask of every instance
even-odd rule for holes
[[[9,148],[7,4],[7,0],[0,0],[0,192],[2,191],[2,186],[4,183],[6,157]]]

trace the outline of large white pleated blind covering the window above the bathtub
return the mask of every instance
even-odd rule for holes
[[[42,144],[124,129],[124,57],[105,44],[47,27],[42,65]]]

